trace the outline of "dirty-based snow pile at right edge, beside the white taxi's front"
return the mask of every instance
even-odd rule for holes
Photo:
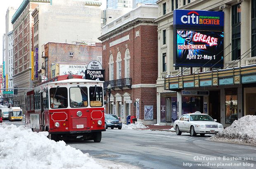
[[[209,140],[256,145],[256,116],[247,115],[235,120],[223,132],[210,137]]]

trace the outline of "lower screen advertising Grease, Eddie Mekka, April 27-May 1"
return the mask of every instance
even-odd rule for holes
[[[176,36],[177,44],[175,66],[223,66],[223,32],[177,30]]]

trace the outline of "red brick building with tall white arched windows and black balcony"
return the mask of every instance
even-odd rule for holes
[[[109,84],[112,87],[106,113],[116,114],[122,122],[136,112],[137,119],[143,123],[156,123],[156,17],[157,5],[142,5],[105,25],[99,37],[105,69],[104,89]],[[109,100],[108,95],[105,100]],[[144,109],[153,113],[152,120],[145,120],[151,115],[144,116]]]

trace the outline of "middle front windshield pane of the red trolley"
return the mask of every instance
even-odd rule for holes
[[[87,107],[88,91],[87,87],[71,87],[69,88],[70,107]]]

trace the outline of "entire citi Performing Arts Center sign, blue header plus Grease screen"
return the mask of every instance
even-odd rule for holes
[[[224,13],[175,9],[173,66],[223,67]]]

